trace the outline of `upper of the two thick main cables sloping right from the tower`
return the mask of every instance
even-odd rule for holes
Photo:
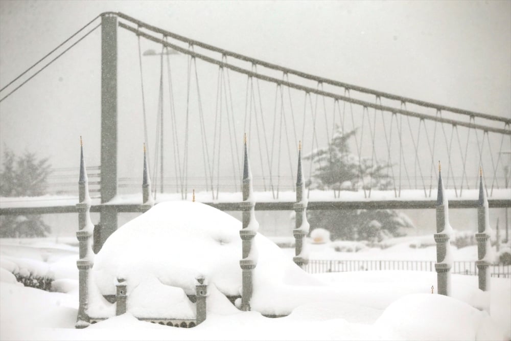
[[[424,106],[424,107],[434,108],[436,110],[450,111],[450,112],[454,112],[454,113],[459,113],[461,115],[474,116],[474,117],[484,118],[484,119],[492,120],[492,121],[501,121],[501,122],[511,123],[511,119],[505,118],[505,117],[498,117],[498,116],[489,115],[489,114],[486,114],[486,113],[475,112],[475,111],[470,111],[470,110],[463,110],[463,109],[454,108],[454,107],[450,107],[450,106],[446,106],[446,105],[440,105],[440,104],[430,103],[430,102],[426,102],[426,101],[415,100],[415,99],[412,99],[412,98],[397,96],[397,95],[381,92],[381,91],[374,90],[374,89],[369,89],[369,88],[362,87],[362,86],[357,86],[357,85],[353,85],[353,84],[343,83],[343,82],[335,81],[335,80],[332,80],[332,79],[328,79],[328,78],[323,78],[323,77],[318,77],[318,76],[315,76],[315,75],[307,74],[307,73],[300,72],[300,71],[297,71],[297,70],[289,69],[288,67],[272,64],[272,63],[269,63],[269,62],[265,62],[263,60],[251,58],[251,57],[248,57],[248,56],[244,56],[244,55],[239,54],[239,53],[235,53],[235,52],[227,51],[227,50],[224,50],[224,49],[220,49],[220,48],[217,48],[217,47],[212,46],[210,44],[206,44],[206,43],[203,43],[203,42],[200,42],[200,41],[197,41],[197,40],[193,40],[193,39],[190,39],[190,38],[187,38],[187,37],[184,37],[184,36],[181,36],[181,35],[178,35],[178,34],[175,34],[175,33],[169,32],[169,31],[166,31],[166,30],[162,30],[162,29],[160,29],[158,27],[149,25],[146,22],[137,20],[137,19],[135,19],[135,18],[133,18],[133,17],[131,17],[129,15],[126,15],[124,13],[120,13],[119,12],[119,13],[117,13],[117,15],[120,18],[122,18],[122,19],[128,20],[128,21],[132,22],[133,24],[136,24],[136,25],[138,25],[140,27],[143,27],[143,28],[145,28],[147,30],[150,30],[150,31],[153,31],[155,33],[160,33],[160,34],[163,34],[165,36],[169,36],[171,38],[174,38],[176,40],[193,44],[194,46],[198,46],[198,47],[206,49],[206,50],[218,52],[218,53],[221,53],[222,55],[225,55],[225,56],[230,56],[230,57],[234,57],[234,58],[246,61],[246,62],[250,62],[252,64],[261,65],[261,66],[267,67],[268,69],[273,69],[273,70],[281,71],[281,72],[284,72],[284,73],[287,73],[287,74],[292,74],[292,75],[295,75],[295,76],[298,76],[298,77],[301,77],[301,78],[305,78],[305,79],[309,79],[309,80],[312,80],[312,81],[321,82],[321,83],[327,83],[327,84],[330,84],[330,85],[343,87],[345,89],[352,89],[352,90],[355,90],[355,91],[360,92],[360,93],[365,93],[365,94],[370,94],[370,95],[374,95],[374,96],[379,96],[379,97],[383,97],[383,98],[387,98],[387,99],[391,99],[391,100],[396,100],[396,101],[401,101],[401,102],[408,102],[408,103],[415,104],[415,105],[420,105],[420,106]],[[119,26],[129,30],[129,26],[123,24],[122,22],[119,22]]]

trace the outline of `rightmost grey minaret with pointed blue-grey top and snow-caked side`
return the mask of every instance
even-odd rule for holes
[[[479,289],[490,291],[490,217],[488,199],[482,184],[482,168],[479,169],[479,200],[477,202],[477,276]]]

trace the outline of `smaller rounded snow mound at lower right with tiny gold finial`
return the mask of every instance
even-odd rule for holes
[[[504,340],[490,315],[439,294],[408,294],[391,303],[375,326],[406,340]]]

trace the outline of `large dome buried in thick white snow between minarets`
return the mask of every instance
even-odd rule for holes
[[[162,288],[195,294],[198,276],[225,295],[240,295],[241,228],[236,218],[200,202],[158,203],[106,240],[94,260],[92,283],[98,293],[113,295],[115,280],[124,278],[128,306],[130,293],[139,286],[158,291],[156,283],[160,283]],[[284,284],[317,283],[266,237],[257,234],[254,243],[259,251],[254,295]]]

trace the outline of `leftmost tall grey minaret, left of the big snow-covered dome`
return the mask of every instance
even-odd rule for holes
[[[78,211],[78,231],[76,238],[79,242],[80,258],[76,261],[78,267],[79,279],[79,306],[78,316],[75,327],[85,328],[89,325],[89,316],[87,314],[88,306],[88,282],[89,270],[94,264],[94,253],[92,253],[91,237],[94,225],[90,221],[90,196],[88,190],[87,172],[85,171],[85,162],[83,160],[83,142],[80,137],[80,176],[78,179],[78,200],[76,209]]]

